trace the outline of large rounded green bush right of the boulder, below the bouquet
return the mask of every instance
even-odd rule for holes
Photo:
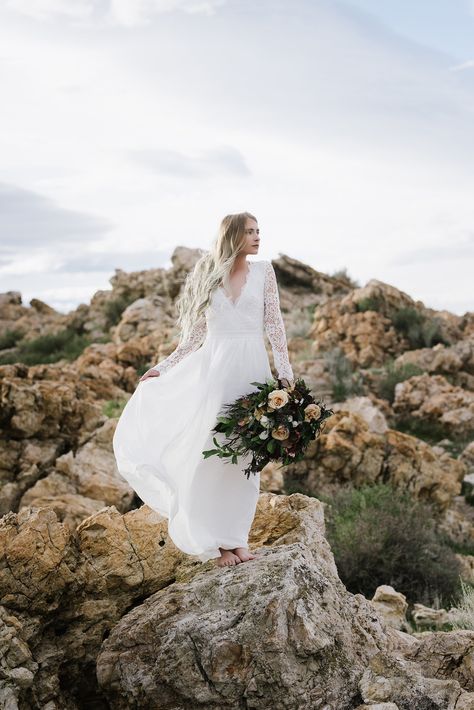
[[[459,593],[459,560],[427,503],[385,483],[345,487],[327,502],[327,538],[350,592],[371,598],[390,584],[409,603],[428,606]]]

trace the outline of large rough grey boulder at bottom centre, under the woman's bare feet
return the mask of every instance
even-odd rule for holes
[[[349,597],[302,543],[260,550],[254,562],[198,573],[126,614],[97,659],[108,702],[117,710],[351,707],[384,643],[368,602]]]

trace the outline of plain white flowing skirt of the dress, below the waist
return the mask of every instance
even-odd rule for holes
[[[200,348],[159,377],[139,382],[113,438],[120,475],[168,518],[174,544],[205,562],[219,547],[248,547],[260,473],[247,479],[250,455],[237,464],[202,452],[223,405],[272,377],[263,334],[207,334]]]

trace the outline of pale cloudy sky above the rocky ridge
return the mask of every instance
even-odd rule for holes
[[[474,0],[0,0],[0,292],[260,250],[474,310]]]

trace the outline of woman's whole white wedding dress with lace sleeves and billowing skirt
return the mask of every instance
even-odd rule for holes
[[[174,544],[203,562],[219,547],[248,547],[260,473],[243,473],[250,455],[233,464],[202,452],[213,436],[225,440],[211,431],[223,405],[272,377],[264,333],[278,377],[293,379],[273,265],[247,263],[239,297],[213,292],[187,341],[154,366],[160,376],[138,383],[113,438],[120,475],[168,518]]]

